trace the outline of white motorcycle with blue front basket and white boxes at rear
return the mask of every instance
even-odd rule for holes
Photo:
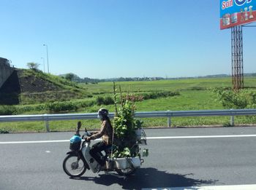
[[[140,158],[141,154],[138,154],[137,157],[113,158],[113,152],[116,149],[116,147],[113,145],[105,150],[105,155],[101,154],[102,159],[105,159],[105,166],[102,167],[99,165],[96,159],[91,157],[90,154],[91,140],[87,141],[86,137],[91,136],[91,132],[88,132],[85,129],[85,132],[81,138],[80,127],[81,123],[78,122],[75,135],[70,139],[69,149],[71,149],[71,151],[67,152],[67,157],[65,157],[63,161],[64,172],[67,173],[67,175],[69,175],[71,178],[80,177],[86,173],[86,170],[91,170],[93,173],[99,173],[102,171],[111,175],[128,176],[135,173],[135,171],[144,162],[144,159]],[[135,146],[138,148],[137,151],[140,151],[139,144],[146,144],[146,134],[143,140],[141,140],[141,138],[136,140]],[[143,157],[147,156],[148,149],[144,149]],[[117,174],[112,172],[116,172]]]

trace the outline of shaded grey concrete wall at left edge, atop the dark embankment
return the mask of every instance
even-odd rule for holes
[[[12,74],[15,68],[10,66],[7,59],[0,58],[0,88],[8,77]]]

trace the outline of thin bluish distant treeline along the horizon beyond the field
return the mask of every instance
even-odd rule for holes
[[[76,74],[64,74],[61,76],[69,76],[69,79],[73,82],[80,83],[91,83],[97,84],[98,82],[129,82],[129,81],[158,81],[158,80],[170,80],[170,79],[198,79],[198,78],[222,78],[222,77],[231,77],[229,74],[216,74],[216,75],[207,75],[207,76],[194,76],[194,77],[119,77],[111,79],[90,79],[88,77],[80,78]],[[71,76],[71,77],[70,77]],[[256,73],[244,74],[244,76],[256,76]]]

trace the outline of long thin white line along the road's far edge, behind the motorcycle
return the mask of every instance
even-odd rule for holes
[[[154,139],[186,139],[186,138],[249,138],[256,135],[206,135],[206,136],[170,136],[170,137],[147,137],[147,140]],[[101,139],[97,139],[101,140]],[[2,141],[0,144],[25,144],[25,143],[66,143],[69,140],[31,140],[31,141]]]

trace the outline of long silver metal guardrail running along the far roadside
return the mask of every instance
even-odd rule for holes
[[[199,110],[199,111],[144,111],[135,112],[135,118],[167,117],[167,126],[171,125],[171,117],[184,116],[230,116],[230,125],[234,125],[234,116],[256,115],[256,109],[229,109],[229,110]],[[110,118],[114,113],[109,114]],[[39,114],[0,116],[0,122],[35,122],[44,121],[49,132],[49,121],[97,119],[97,113],[93,114]]]

